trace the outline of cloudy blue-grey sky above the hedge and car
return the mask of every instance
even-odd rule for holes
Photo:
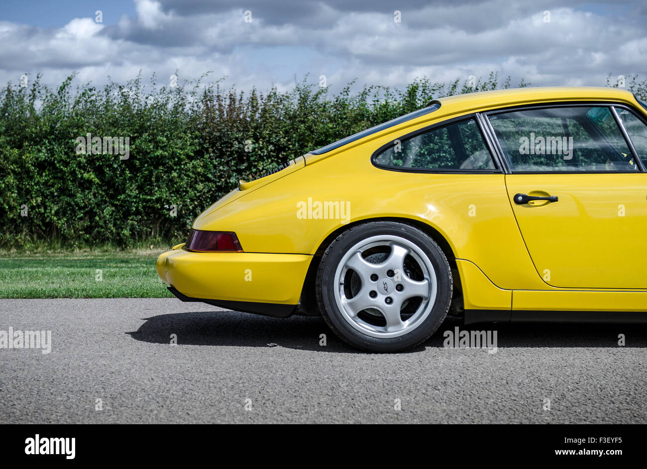
[[[2,0],[0,82],[159,83],[210,72],[226,87],[340,91],[511,76],[534,86],[647,78],[641,1]]]

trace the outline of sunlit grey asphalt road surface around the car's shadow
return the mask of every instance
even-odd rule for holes
[[[49,354],[0,348],[0,423],[647,422],[647,327],[472,326],[497,331],[488,353],[443,347],[456,326],[408,353],[369,354],[321,318],[0,300],[0,331],[52,331]]]

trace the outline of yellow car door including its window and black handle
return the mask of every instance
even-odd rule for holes
[[[548,285],[647,289],[647,174],[604,104],[488,113],[510,204]]]

